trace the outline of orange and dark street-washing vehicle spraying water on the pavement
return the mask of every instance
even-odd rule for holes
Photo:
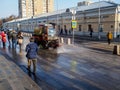
[[[59,45],[56,30],[52,24],[40,24],[34,29],[33,36],[37,44],[43,47],[57,47]]]

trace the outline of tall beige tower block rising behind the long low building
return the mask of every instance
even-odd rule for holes
[[[54,11],[54,0],[19,0],[19,17],[37,16]]]

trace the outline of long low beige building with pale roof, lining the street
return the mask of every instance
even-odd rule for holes
[[[92,28],[93,36],[106,37],[108,31],[113,33],[114,38],[120,35],[120,5],[109,1],[79,4],[76,7],[11,21],[6,23],[6,26],[13,28],[17,26],[17,23],[20,23],[22,31],[33,32],[39,23],[53,23],[58,32],[61,29],[63,29],[63,33],[65,33],[65,29],[72,32],[72,10],[76,11],[75,20],[77,21],[74,34],[90,35],[90,29]]]

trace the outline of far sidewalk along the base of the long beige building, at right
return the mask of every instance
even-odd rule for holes
[[[71,38],[72,42],[72,35],[61,35],[60,37],[65,38],[64,43],[67,43],[67,38]],[[74,36],[74,42],[76,45],[82,44],[86,48],[94,49],[94,50],[99,50],[103,52],[110,52],[113,54],[114,51],[114,46],[119,45],[120,48],[120,38],[113,39],[111,41],[111,44],[108,45],[107,38],[101,38],[98,39],[97,37],[90,37],[90,36],[81,36],[81,35],[75,35]],[[89,42],[89,43],[88,43]],[[68,43],[67,43],[68,44]],[[120,50],[120,49],[119,49]],[[120,51],[117,51],[120,54]]]

